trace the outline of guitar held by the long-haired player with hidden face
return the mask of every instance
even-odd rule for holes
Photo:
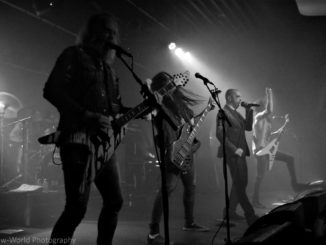
[[[187,156],[194,150],[193,142],[198,134],[198,130],[204,122],[208,112],[214,108],[213,101],[210,98],[207,107],[200,116],[197,123],[192,126],[185,123],[182,126],[179,138],[174,141],[168,149],[168,158],[181,171],[187,171],[191,167],[188,161],[185,161]]]

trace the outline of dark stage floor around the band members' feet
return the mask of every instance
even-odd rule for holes
[[[287,193],[264,193],[265,203],[269,203],[266,209],[256,209],[259,216],[263,216],[266,212],[273,208],[272,202],[282,201],[284,197],[289,198]],[[42,194],[38,195],[48,195]],[[43,219],[30,219],[34,222],[29,225],[24,222],[18,222],[15,224],[9,222],[11,219],[1,219],[0,230],[0,244],[47,244],[52,226],[60,214],[64,204],[64,193],[55,193],[55,203],[38,203],[36,211],[33,208],[29,208],[32,212],[30,216],[47,215],[51,213],[51,218]],[[146,236],[148,234],[148,224],[150,220],[150,213],[152,202],[155,196],[155,192],[129,192],[125,195],[124,206],[119,216],[119,223],[114,237],[114,244],[116,245],[138,245],[146,244]],[[49,198],[46,197],[47,200]],[[40,200],[40,199],[38,199]],[[16,204],[13,204],[17,206]],[[33,200],[32,200],[33,205]],[[40,205],[43,205],[40,206]],[[101,207],[101,198],[96,191],[92,192],[92,196],[89,203],[89,208],[83,222],[78,226],[75,236],[74,244],[89,245],[95,244],[97,233],[97,217]],[[182,188],[178,188],[170,198],[170,221],[169,221],[169,233],[170,240],[174,244],[188,244],[188,245],[201,245],[201,244],[225,244],[226,239],[226,227],[223,226],[219,231],[218,221],[222,217],[222,210],[224,207],[224,195],[223,192],[216,191],[215,193],[197,193],[195,204],[195,221],[200,225],[204,225],[210,228],[208,232],[189,232],[183,231],[183,205],[182,205]],[[17,213],[17,212],[16,212]],[[239,208],[239,214],[242,214],[242,210]],[[15,214],[12,214],[15,215]],[[22,212],[21,215],[24,215]],[[2,217],[2,218],[1,218]],[[15,219],[19,220],[19,219]],[[46,222],[44,222],[44,220]],[[38,223],[39,222],[39,223]],[[10,223],[10,224],[8,224]],[[239,239],[248,228],[245,220],[240,222],[231,222],[230,234],[231,241]],[[4,234],[7,229],[17,229],[17,233],[11,235]],[[20,229],[20,230],[19,230]],[[1,234],[2,233],[2,234]],[[161,224],[161,233],[164,234],[163,224]],[[212,240],[214,241],[212,242]]]

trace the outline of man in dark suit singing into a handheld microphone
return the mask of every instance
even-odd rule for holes
[[[236,213],[237,205],[242,207],[248,225],[252,224],[258,217],[249,202],[246,187],[248,184],[248,168],[246,157],[250,155],[246,141],[245,131],[252,130],[253,110],[246,107],[246,118],[237,112],[241,102],[241,95],[237,89],[228,89],[225,93],[226,105],[224,112],[231,123],[231,127],[225,123],[225,151],[226,162],[232,177],[232,188],[230,193],[229,217],[236,220],[242,217]],[[216,136],[221,143],[217,157],[223,156],[223,125],[222,115],[217,114]]]

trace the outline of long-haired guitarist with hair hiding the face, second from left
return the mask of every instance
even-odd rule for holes
[[[156,91],[166,85],[172,76],[166,72],[160,72],[152,79],[151,90]],[[165,154],[172,143],[178,139],[181,126],[187,122],[194,124],[194,113],[189,106],[197,103],[195,95],[185,94],[181,87],[177,87],[172,93],[164,96],[162,100],[162,106],[167,114],[159,111],[154,118],[154,123],[157,131],[157,142],[159,143],[160,152],[164,154],[165,170],[166,170],[166,188],[168,195],[175,190],[178,179],[181,178],[184,193],[183,204],[185,210],[185,224],[184,231],[208,231],[209,229],[198,225],[194,221],[193,209],[195,201],[195,172],[193,164],[193,153],[191,153],[187,159],[186,164],[189,164],[190,168],[183,172],[173,165],[168,158],[168,154]],[[177,125],[175,125],[176,123]],[[160,145],[162,143],[162,145]],[[199,143],[199,142],[198,142]],[[196,142],[194,142],[196,144]],[[198,146],[198,144],[197,144]],[[196,146],[194,146],[196,147]],[[195,150],[195,149],[194,149]],[[161,154],[162,158],[162,154]],[[160,235],[159,224],[163,212],[162,192],[158,191],[154,206],[152,210],[152,217],[150,223],[150,232],[147,237],[148,244],[164,244],[164,238]]]

